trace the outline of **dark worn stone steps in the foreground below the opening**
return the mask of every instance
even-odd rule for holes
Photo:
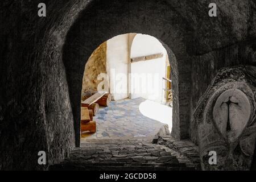
[[[143,140],[88,140],[49,170],[180,171],[196,166],[176,150]]]

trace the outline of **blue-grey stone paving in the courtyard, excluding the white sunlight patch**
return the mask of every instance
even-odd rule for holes
[[[83,133],[81,140],[86,139],[129,139],[145,137],[152,140],[156,135],[168,135],[168,125],[145,117],[139,111],[144,98],[112,101],[108,107],[101,107],[94,121],[97,132]]]

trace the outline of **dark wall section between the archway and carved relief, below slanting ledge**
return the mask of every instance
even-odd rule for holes
[[[246,40],[228,47],[214,50],[204,55],[194,56],[192,64],[191,111],[207,90],[218,70],[234,65],[256,65],[256,40]],[[191,118],[191,139],[197,143],[197,126]]]

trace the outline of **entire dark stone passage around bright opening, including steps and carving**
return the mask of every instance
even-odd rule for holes
[[[254,0],[216,0],[216,16],[208,0],[45,0],[46,16],[41,3],[0,2],[0,170],[255,169]],[[80,146],[85,65],[102,43],[135,32],[166,49],[171,133]]]

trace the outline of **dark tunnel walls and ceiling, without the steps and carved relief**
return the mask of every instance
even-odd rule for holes
[[[256,2],[74,0],[0,2],[0,169],[47,169],[80,144],[84,65],[102,42],[137,32],[158,38],[174,66],[172,136],[198,143],[196,105],[218,70],[256,65]],[[230,10],[229,6],[234,6]],[[47,152],[47,166],[38,165]]]

